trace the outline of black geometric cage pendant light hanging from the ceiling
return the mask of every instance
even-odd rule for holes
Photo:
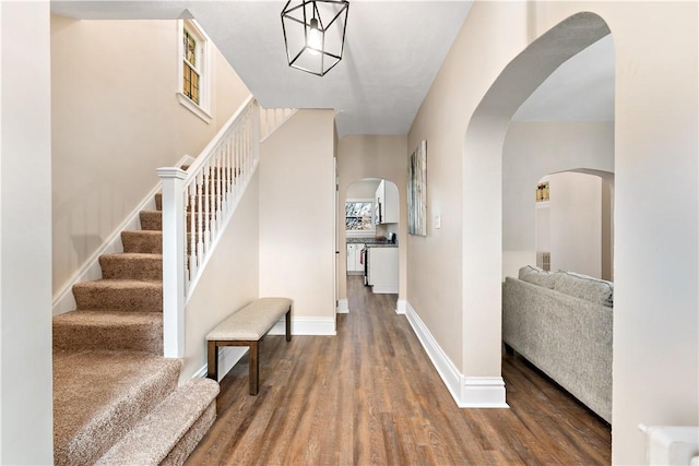
[[[347,0],[288,0],[282,31],[288,65],[323,76],[342,60]]]

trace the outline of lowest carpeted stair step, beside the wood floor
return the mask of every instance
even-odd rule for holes
[[[145,416],[96,464],[156,466],[180,443],[180,449],[173,455],[182,457],[170,459],[175,459],[174,464],[183,463],[215,419],[217,394],[216,382],[190,380]]]

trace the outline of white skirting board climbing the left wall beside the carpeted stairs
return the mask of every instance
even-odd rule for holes
[[[193,157],[186,155],[177,166],[191,164]],[[157,174],[154,174],[157,176]],[[83,263],[83,265],[66,282],[66,284],[54,295],[52,314],[62,314],[75,309],[75,298],[73,297],[73,285],[80,282],[90,282],[102,278],[102,267],[99,256],[102,254],[112,254],[123,252],[121,244],[121,231],[138,230],[141,228],[139,213],[144,210],[155,210],[155,194],[161,190],[162,183],[158,181],[155,188],[149,192],[139,205],[127,215],[126,219],[107,237],[102,246]]]

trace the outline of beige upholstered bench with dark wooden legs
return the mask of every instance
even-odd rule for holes
[[[206,335],[209,342],[208,378],[218,380],[218,347],[249,346],[250,395],[257,395],[260,384],[259,344],[274,324],[286,314],[286,340],[292,340],[292,300],[260,298],[234,312]]]

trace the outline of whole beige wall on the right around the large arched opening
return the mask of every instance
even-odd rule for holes
[[[507,116],[565,57],[537,60],[543,41],[516,59],[583,11],[608,24],[616,48],[613,462],[642,464],[639,423],[699,425],[696,2],[473,5],[408,135],[408,147],[428,140],[428,214],[441,211],[442,228],[408,238],[407,299],[464,374],[500,372]],[[460,166],[461,177],[447,169]]]

